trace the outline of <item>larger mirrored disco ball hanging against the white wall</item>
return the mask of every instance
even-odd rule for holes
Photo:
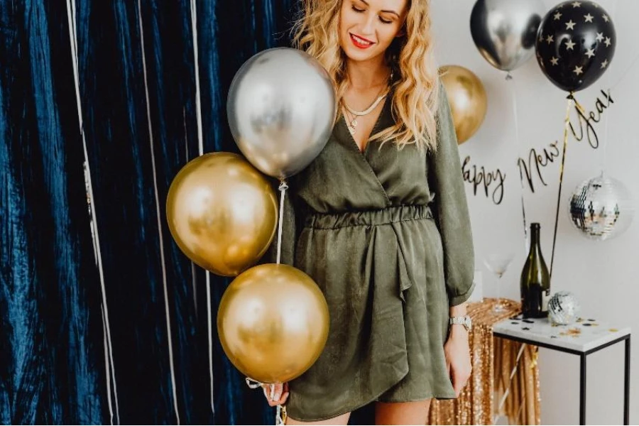
[[[626,185],[601,173],[574,190],[569,213],[572,224],[585,236],[603,241],[628,229],[635,207]]]

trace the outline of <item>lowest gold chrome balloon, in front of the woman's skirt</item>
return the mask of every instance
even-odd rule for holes
[[[324,349],[329,312],[315,281],[288,265],[241,273],[217,311],[222,348],[244,375],[284,383],[312,366]]]

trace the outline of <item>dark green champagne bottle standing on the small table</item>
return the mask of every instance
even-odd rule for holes
[[[530,252],[521,271],[521,310],[524,318],[548,316],[550,274],[539,242],[540,225],[530,224]]]

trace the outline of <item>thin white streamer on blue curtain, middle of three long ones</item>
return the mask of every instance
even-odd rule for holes
[[[180,411],[178,410],[178,390],[175,381],[175,366],[173,363],[173,337],[171,337],[171,317],[168,303],[168,290],[166,283],[166,266],[164,258],[164,236],[162,232],[162,219],[160,217],[160,196],[158,195],[158,175],[155,170],[155,148],[153,147],[153,126],[151,126],[151,101],[148,95],[148,79],[146,76],[146,56],[144,54],[144,30],[142,26],[142,6],[138,0],[138,25],[140,26],[140,50],[142,52],[142,70],[144,75],[144,94],[146,95],[146,119],[148,121],[148,140],[151,146],[151,169],[153,170],[153,190],[155,193],[155,212],[158,219],[158,234],[160,236],[160,263],[162,263],[162,286],[164,290],[164,313],[166,317],[166,334],[168,339],[169,366],[171,370],[171,388],[173,391],[173,409],[177,424],[180,425]]]

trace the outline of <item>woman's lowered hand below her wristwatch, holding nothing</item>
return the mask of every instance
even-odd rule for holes
[[[472,371],[468,332],[463,325],[451,325],[448,340],[444,344],[444,356],[455,395],[459,397]]]

